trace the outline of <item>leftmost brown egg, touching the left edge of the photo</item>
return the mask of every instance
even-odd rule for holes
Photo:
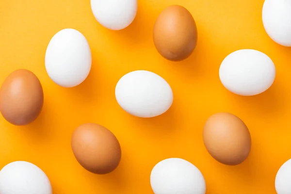
[[[0,89],[0,112],[11,124],[27,125],[34,121],[44,104],[44,92],[38,78],[29,70],[18,69]]]

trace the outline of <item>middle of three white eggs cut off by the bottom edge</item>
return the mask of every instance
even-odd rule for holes
[[[192,163],[169,158],[155,165],[150,174],[155,194],[205,194],[206,184],[200,170]]]

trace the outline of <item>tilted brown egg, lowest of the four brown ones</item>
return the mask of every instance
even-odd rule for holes
[[[112,172],[121,159],[121,148],[114,134],[94,123],[75,129],[71,146],[81,166],[95,174]]]

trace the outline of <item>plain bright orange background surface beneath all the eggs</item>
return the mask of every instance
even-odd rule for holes
[[[168,5],[193,14],[198,44],[190,58],[169,62],[152,41],[155,19]],[[39,118],[16,127],[0,117],[0,168],[23,160],[48,175],[53,194],[152,194],[153,166],[179,157],[203,173],[207,194],[275,194],[275,175],[291,158],[291,48],[273,42],[263,29],[263,0],[139,0],[137,16],[127,29],[110,31],[94,18],[90,0],[1,0],[0,83],[18,68],[32,70],[45,93]],[[44,57],[51,37],[74,28],[87,38],[93,55],[89,77],[75,88],[53,83]],[[257,49],[274,61],[276,79],[265,93],[240,97],[219,80],[222,60],[237,49]],[[146,69],[171,85],[174,103],[156,118],[125,113],[114,96],[126,73]],[[210,157],[202,128],[213,113],[239,116],[252,135],[249,158],[226,166]],[[85,171],[70,147],[73,130],[96,122],[112,130],[122,146],[122,161],[108,175]]]

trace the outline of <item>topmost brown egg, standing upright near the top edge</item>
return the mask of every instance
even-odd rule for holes
[[[154,25],[156,49],[170,61],[181,61],[191,55],[197,43],[197,28],[191,13],[184,7],[165,8]]]

